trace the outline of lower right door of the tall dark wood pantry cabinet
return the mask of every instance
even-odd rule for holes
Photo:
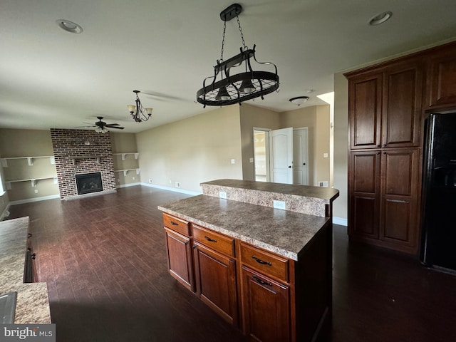
[[[380,239],[404,252],[417,252],[419,150],[384,150]]]

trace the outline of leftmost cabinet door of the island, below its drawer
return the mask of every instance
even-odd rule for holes
[[[168,269],[171,276],[190,291],[195,291],[190,237],[165,228]]]

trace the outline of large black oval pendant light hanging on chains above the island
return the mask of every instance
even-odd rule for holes
[[[255,58],[255,45],[252,49],[245,45],[244,34],[242,33],[239,22],[239,14],[242,12],[242,6],[232,4],[220,13],[220,19],[224,21],[222,53],[217,65],[214,66],[214,76],[204,78],[202,88],[197,91],[197,102],[206,105],[232,105],[241,104],[244,101],[253,98],[264,99],[264,95],[272,93],[279,88],[279,75],[274,63],[259,62]],[[239,54],[223,59],[223,49],[225,40],[225,31],[227,21],[236,18],[239,26],[239,32],[242,38],[242,47],[239,48]],[[260,65],[271,65],[274,72],[254,71],[252,62]],[[239,70],[239,73],[234,73]]]

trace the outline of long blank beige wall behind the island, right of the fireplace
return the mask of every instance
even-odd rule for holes
[[[239,105],[146,130],[136,142],[143,183],[201,192],[201,182],[242,180]]]

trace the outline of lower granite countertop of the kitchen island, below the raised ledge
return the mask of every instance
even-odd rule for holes
[[[207,195],[163,204],[158,209],[296,261],[306,244],[330,221],[329,217]]]

